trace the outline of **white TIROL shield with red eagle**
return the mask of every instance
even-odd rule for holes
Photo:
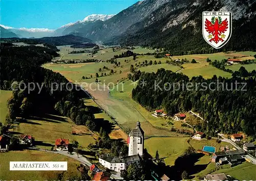
[[[229,11],[203,12],[203,37],[210,46],[220,49],[231,37],[232,14]]]

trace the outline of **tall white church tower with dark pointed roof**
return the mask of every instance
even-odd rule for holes
[[[128,136],[127,143],[129,144],[129,156],[143,155],[144,149],[144,131],[140,127],[140,122],[137,122],[136,129],[133,129]]]

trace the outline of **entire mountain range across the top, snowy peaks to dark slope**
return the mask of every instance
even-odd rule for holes
[[[213,53],[216,50],[202,36],[202,12],[230,11],[232,36],[218,51],[252,51],[256,48],[255,10],[254,0],[145,0],[116,15],[94,14],[56,30],[9,27],[3,31],[3,26],[1,32],[2,37],[27,38],[73,34],[107,44],[156,48],[161,45],[173,54]]]

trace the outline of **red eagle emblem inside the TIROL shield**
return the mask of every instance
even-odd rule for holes
[[[224,21],[221,21],[220,17],[212,17],[211,21],[207,18],[205,20],[205,30],[210,34],[208,38],[210,38],[210,42],[214,41],[218,43],[219,41],[224,41],[225,35],[223,34],[228,29],[228,21],[227,18]]]

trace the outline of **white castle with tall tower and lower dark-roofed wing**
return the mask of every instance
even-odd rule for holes
[[[144,131],[140,127],[140,122],[137,122],[137,127],[129,133],[127,144],[129,144],[128,155],[122,152],[120,152],[119,156],[103,154],[99,157],[99,163],[117,172],[126,170],[127,166],[132,163],[139,164],[142,160],[141,156],[143,155],[144,149]]]

